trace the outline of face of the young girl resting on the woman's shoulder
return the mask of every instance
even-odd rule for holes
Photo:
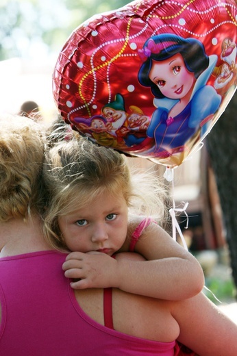
[[[127,203],[122,194],[105,192],[88,206],[58,219],[64,241],[71,251],[99,251],[113,255],[127,236]]]

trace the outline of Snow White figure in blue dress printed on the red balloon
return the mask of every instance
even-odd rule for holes
[[[138,54],[144,61],[138,80],[151,88],[156,107],[146,141],[155,141],[155,153],[184,151],[200,128],[204,135],[221,103],[221,96],[206,85],[217,56],[208,57],[199,40],[174,34],[152,36]]]

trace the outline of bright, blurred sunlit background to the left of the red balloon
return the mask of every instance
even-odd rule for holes
[[[45,122],[57,115],[51,75],[73,29],[125,0],[1,0],[0,114],[17,114],[24,101],[36,101]]]

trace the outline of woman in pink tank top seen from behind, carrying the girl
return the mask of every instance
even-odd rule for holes
[[[112,330],[104,326],[103,290],[73,293],[62,271],[66,255],[42,236],[40,131],[27,118],[1,122],[1,355],[152,355],[158,338],[166,344],[160,355],[175,355],[175,338],[199,355],[236,355],[237,326],[203,294],[164,302],[114,290]]]

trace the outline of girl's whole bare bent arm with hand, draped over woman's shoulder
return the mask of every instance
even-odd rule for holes
[[[128,248],[129,239],[121,252]],[[149,261],[116,260],[98,252],[70,253],[63,265],[65,276],[80,279],[71,283],[75,289],[114,287],[166,300],[190,298],[202,290],[203,270],[197,259],[158,225],[151,223],[145,229],[135,251]]]

